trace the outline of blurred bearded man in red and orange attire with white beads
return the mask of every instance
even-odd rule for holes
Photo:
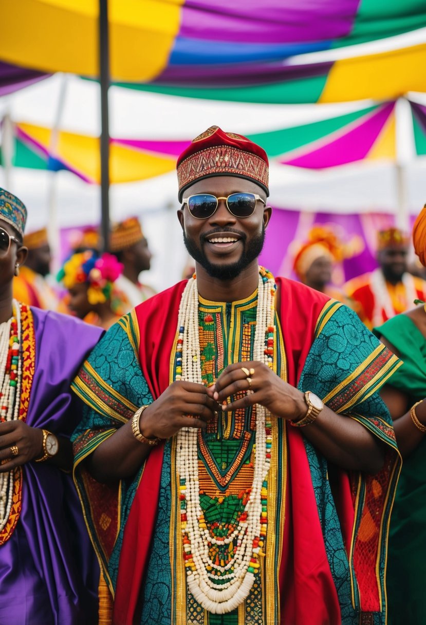
[[[344,285],[344,291],[356,302],[355,309],[369,329],[410,310],[415,299],[425,299],[426,282],[407,271],[408,253],[409,237],[404,232],[397,228],[379,231],[379,267]]]

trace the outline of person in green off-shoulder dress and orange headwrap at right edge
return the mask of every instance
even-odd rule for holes
[[[413,229],[414,248],[426,266],[426,207]],[[374,332],[404,364],[380,394],[394,420],[404,459],[390,519],[387,566],[389,625],[426,623],[426,311],[399,314]]]

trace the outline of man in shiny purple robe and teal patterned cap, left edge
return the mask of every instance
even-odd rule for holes
[[[26,216],[0,189],[0,622],[92,625],[99,566],[71,477],[70,384],[101,330],[13,298]]]

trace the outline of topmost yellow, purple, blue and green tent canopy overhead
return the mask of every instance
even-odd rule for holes
[[[111,0],[109,19],[112,81],[132,88],[259,103],[426,91],[424,0]],[[97,0],[4,2],[2,22],[9,69],[97,77]],[[379,39],[364,56],[311,56]]]

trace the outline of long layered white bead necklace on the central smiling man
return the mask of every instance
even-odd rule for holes
[[[176,379],[202,384],[196,276],[188,281],[179,308]],[[274,276],[259,267],[254,360],[274,364],[276,331]],[[197,429],[185,427],[177,434],[176,469],[181,499],[181,531],[187,585],[207,611],[225,614],[248,596],[259,575],[267,530],[267,476],[272,451],[270,413],[256,407],[255,461],[252,485],[237,523],[226,536],[212,536],[200,503]],[[215,546],[227,546],[226,562],[212,557]],[[217,551],[216,551],[217,552]]]

